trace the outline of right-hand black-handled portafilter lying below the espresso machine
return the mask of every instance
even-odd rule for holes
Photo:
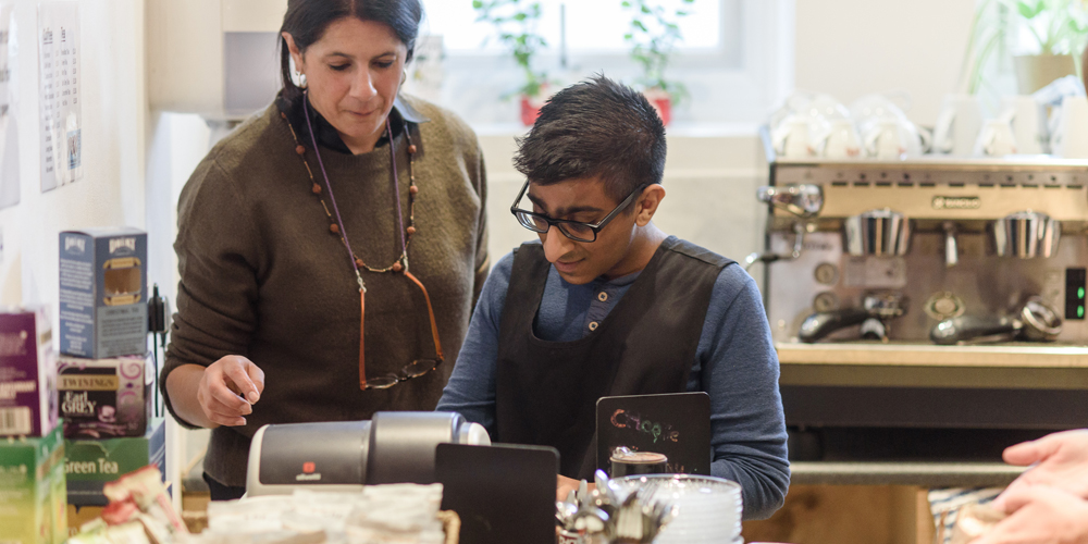
[[[941,321],[929,332],[934,344],[970,341],[1051,342],[1062,333],[1062,318],[1039,297],[1031,297],[1013,316],[960,316]]]

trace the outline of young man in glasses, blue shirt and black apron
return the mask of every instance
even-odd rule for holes
[[[592,481],[597,398],[705,391],[712,473],[741,484],[745,519],[770,516],[790,469],[766,313],[733,261],[651,222],[665,198],[654,109],[605,77],[568,87],[515,162],[528,182],[511,211],[541,243],[492,270],[438,409],[559,449],[565,496]]]

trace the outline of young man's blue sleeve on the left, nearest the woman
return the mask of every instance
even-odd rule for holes
[[[469,332],[457,355],[457,366],[435,408],[456,411],[480,423],[495,436],[495,369],[498,364],[498,326],[506,304],[506,289],[514,269],[514,252],[495,263],[483,284]]]

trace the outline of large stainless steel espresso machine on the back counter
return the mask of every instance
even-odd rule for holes
[[[749,263],[765,263],[776,342],[803,339],[814,314],[893,296],[910,305],[887,320],[886,341],[929,342],[941,321],[1012,314],[1034,298],[1062,320],[1052,339],[1088,344],[1088,161],[769,160],[757,195],[770,203],[766,248]],[[821,202],[815,211],[768,194]],[[856,339],[862,322],[816,339]]]

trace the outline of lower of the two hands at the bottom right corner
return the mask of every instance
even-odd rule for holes
[[[1088,500],[1043,485],[1003,496],[1011,515],[970,544],[1088,544]]]

